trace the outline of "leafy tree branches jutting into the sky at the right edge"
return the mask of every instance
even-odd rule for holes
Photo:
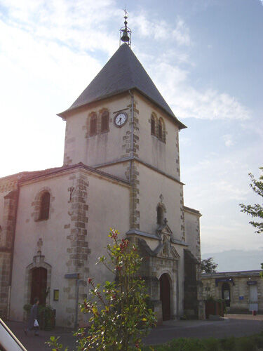
[[[263,172],[263,167],[259,167],[259,169]],[[256,180],[252,173],[248,173],[251,179],[250,187],[252,190],[263,198],[263,173],[259,176],[259,180]],[[263,200],[263,199],[262,199]],[[263,202],[263,201],[262,201]],[[259,218],[263,220],[263,206],[262,204],[254,204],[254,205],[244,205],[239,204],[242,210],[241,212],[247,213],[252,218]],[[256,234],[260,234],[263,232],[263,221],[255,221],[251,220],[250,224],[255,227],[257,230]]]

